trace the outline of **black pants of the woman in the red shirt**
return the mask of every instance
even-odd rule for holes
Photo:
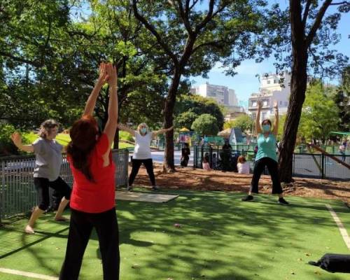
[[[71,209],[71,223],[66,246],[66,257],[59,280],[78,279],[81,263],[92,228],[99,237],[104,280],[119,279],[119,232],[116,209],[91,214]]]

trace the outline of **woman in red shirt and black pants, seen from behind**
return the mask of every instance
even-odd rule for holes
[[[99,92],[109,83],[109,119],[99,135],[92,117]],[[119,279],[119,234],[115,209],[115,170],[111,144],[118,120],[117,72],[112,64],[101,64],[99,79],[85,106],[83,117],[70,130],[67,148],[74,183],[71,194],[71,223],[66,257],[59,279],[78,279],[92,228],[99,237],[104,280]]]

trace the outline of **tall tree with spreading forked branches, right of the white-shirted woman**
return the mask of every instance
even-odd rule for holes
[[[154,36],[169,63],[171,81],[165,100],[165,128],[172,127],[176,94],[182,76],[205,76],[218,61],[234,69],[251,58],[254,34],[262,31],[260,6],[265,1],[138,1],[130,0],[134,15]],[[231,71],[233,73],[233,71]],[[173,131],[166,134],[165,170],[174,170]]]

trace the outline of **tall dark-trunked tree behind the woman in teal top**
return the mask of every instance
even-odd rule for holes
[[[335,5],[339,6],[338,12],[325,16],[328,8]],[[327,47],[332,41],[339,41],[337,36],[332,37],[331,31],[337,28],[340,13],[349,11],[349,8],[350,4],[347,1],[289,1],[292,76],[290,101],[279,155],[280,177],[283,182],[292,181],[293,151],[307,88],[308,66],[311,66],[315,73],[325,76],[337,70],[335,65],[342,66],[346,62],[347,57],[338,56],[335,52],[327,50]],[[287,43],[288,48],[289,41],[283,43]],[[308,65],[310,56],[312,63]],[[331,60],[339,62],[325,67],[325,62]]]

